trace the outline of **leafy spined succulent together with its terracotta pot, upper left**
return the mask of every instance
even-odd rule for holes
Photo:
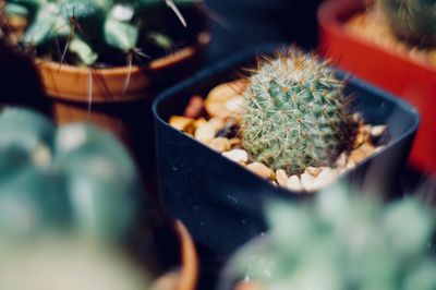
[[[24,19],[15,38],[35,53],[56,121],[109,129],[153,180],[150,101],[198,63],[207,43],[199,1],[11,0],[4,10]]]

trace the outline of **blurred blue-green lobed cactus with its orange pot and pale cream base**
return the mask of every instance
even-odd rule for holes
[[[195,288],[187,231],[145,200],[132,159],[112,135],[81,123],[57,130],[33,111],[10,108],[0,114],[0,144],[1,288],[70,289],[68,279],[89,282],[93,268],[101,289],[137,289],[142,281],[147,288],[169,270],[166,289]]]

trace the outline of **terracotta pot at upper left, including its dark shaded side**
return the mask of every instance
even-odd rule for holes
[[[198,67],[208,41],[209,35],[201,33],[195,45],[146,67],[90,69],[43,60],[37,60],[37,65],[56,122],[89,121],[119,136],[135,157],[147,192],[154,194],[152,101],[166,85],[180,81]]]

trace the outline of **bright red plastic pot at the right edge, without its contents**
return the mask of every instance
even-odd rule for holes
[[[436,173],[436,68],[365,41],[344,29],[364,0],[328,0],[318,10],[319,50],[342,70],[414,105],[422,118],[410,162]]]

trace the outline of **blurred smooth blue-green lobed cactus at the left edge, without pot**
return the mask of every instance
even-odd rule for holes
[[[55,228],[118,242],[143,197],[132,159],[109,133],[57,130],[24,109],[0,114],[0,243]]]

